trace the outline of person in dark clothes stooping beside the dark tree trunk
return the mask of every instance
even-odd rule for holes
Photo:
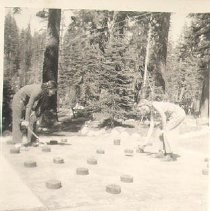
[[[42,113],[41,107],[44,101],[55,93],[56,83],[48,81],[43,84],[26,85],[14,95],[12,102],[12,135],[14,143],[21,144],[23,142],[24,131],[28,131],[25,144],[31,142],[31,130],[33,131],[36,118]]]

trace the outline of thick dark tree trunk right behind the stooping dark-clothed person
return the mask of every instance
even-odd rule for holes
[[[44,53],[43,82],[58,81],[58,52],[60,34],[61,10],[49,9],[47,42]],[[57,118],[57,94],[49,98],[47,102],[49,110],[52,110]],[[46,106],[46,105],[45,105]]]

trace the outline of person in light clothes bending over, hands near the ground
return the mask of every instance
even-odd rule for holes
[[[159,157],[165,160],[173,160],[173,153],[168,143],[168,132],[177,128],[185,119],[185,111],[174,103],[141,100],[137,104],[137,110],[142,116],[150,115],[150,128],[147,133],[146,140],[143,145],[138,146],[139,152],[144,152],[144,148],[151,145],[150,138],[153,134],[155,122],[158,117],[160,124],[158,126],[158,137],[162,143],[162,149],[159,151]]]

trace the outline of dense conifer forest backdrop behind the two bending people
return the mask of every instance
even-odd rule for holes
[[[33,35],[30,24],[20,30],[18,13],[5,18],[3,113],[18,88],[43,80],[47,28]],[[114,122],[132,115],[145,96],[200,112],[208,100],[210,15],[190,14],[176,45],[168,40],[170,16],[74,10],[66,31],[61,17],[58,109],[79,104]]]

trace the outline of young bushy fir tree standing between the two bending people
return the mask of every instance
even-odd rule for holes
[[[102,61],[100,108],[107,113],[111,124],[122,119],[130,108],[130,75],[123,63],[125,41],[114,37],[107,46]]]

